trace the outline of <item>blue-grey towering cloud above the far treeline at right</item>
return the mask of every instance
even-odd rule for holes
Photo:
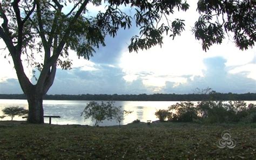
[[[223,57],[212,57],[204,60],[206,70],[203,77],[188,78],[187,83],[173,86],[173,82],[166,82],[164,93],[193,93],[196,88],[212,88],[217,92],[247,93],[256,92],[256,81],[247,78],[244,73],[230,74],[225,66]]]

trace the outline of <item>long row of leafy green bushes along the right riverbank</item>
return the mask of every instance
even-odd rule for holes
[[[199,101],[196,105],[190,101],[180,102],[155,113],[160,121],[166,119],[178,122],[205,123],[254,123],[256,105],[246,105],[244,101]]]

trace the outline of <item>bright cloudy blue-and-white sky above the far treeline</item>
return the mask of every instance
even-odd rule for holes
[[[120,30],[117,37],[106,37],[105,47],[96,49],[90,61],[78,59],[70,50],[71,70],[57,69],[55,82],[48,94],[154,94],[193,93],[196,88],[211,88],[221,93],[256,92],[256,48],[241,51],[232,38],[213,45],[207,52],[191,32],[199,14],[195,1],[187,1],[190,9],[170,18],[185,19],[180,37],[165,37],[164,44],[149,50],[129,53],[128,46],[138,28]],[[89,13],[103,7],[89,6]],[[4,43],[0,41],[0,48]],[[17,81],[11,57],[4,59],[0,50],[0,93],[23,93]],[[31,77],[31,68],[26,73]],[[31,81],[35,82],[31,78]]]

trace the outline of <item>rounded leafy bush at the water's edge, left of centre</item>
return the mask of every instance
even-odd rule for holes
[[[90,103],[85,106],[81,116],[84,114],[84,119],[91,117],[92,121],[96,120],[96,126],[105,119],[112,120],[116,118],[117,109],[113,104],[113,101],[107,101],[107,103],[102,101],[102,104],[98,104],[96,101],[90,101]]]

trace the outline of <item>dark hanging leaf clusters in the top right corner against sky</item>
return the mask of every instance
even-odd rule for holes
[[[255,15],[253,1],[198,1],[200,17],[196,21],[193,33],[202,41],[206,51],[214,43],[220,44],[224,33],[231,37],[239,49],[254,46],[256,40],[254,25]]]

